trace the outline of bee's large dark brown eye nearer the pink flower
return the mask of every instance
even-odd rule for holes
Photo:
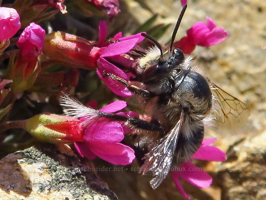
[[[164,73],[166,71],[167,69],[163,65],[158,65],[158,64],[151,65],[142,74],[142,82],[146,84],[151,81],[155,81],[156,78],[160,76],[159,75],[160,73]]]

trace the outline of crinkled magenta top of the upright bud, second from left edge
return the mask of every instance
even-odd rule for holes
[[[38,24],[30,23],[21,33],[17,46],[27,59],[36,59],[43,51],[45,31]]]

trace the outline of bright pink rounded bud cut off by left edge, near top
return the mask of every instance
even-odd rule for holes
[[[14,36],[20,25],[20,16],[15,9],[0,7],[0,42]]]

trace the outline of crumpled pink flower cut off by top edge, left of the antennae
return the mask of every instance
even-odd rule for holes
[[[119,9],[118,0],[87,0],[90,4],[98,8],[99,10],[104,10],[108,17],[112,19],[121,10]]]

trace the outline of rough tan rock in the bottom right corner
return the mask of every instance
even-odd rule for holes
[[[228,159],[220,166],[218,183],[222,199],[265,199],[266,132],[249,136],[229,148]]]

